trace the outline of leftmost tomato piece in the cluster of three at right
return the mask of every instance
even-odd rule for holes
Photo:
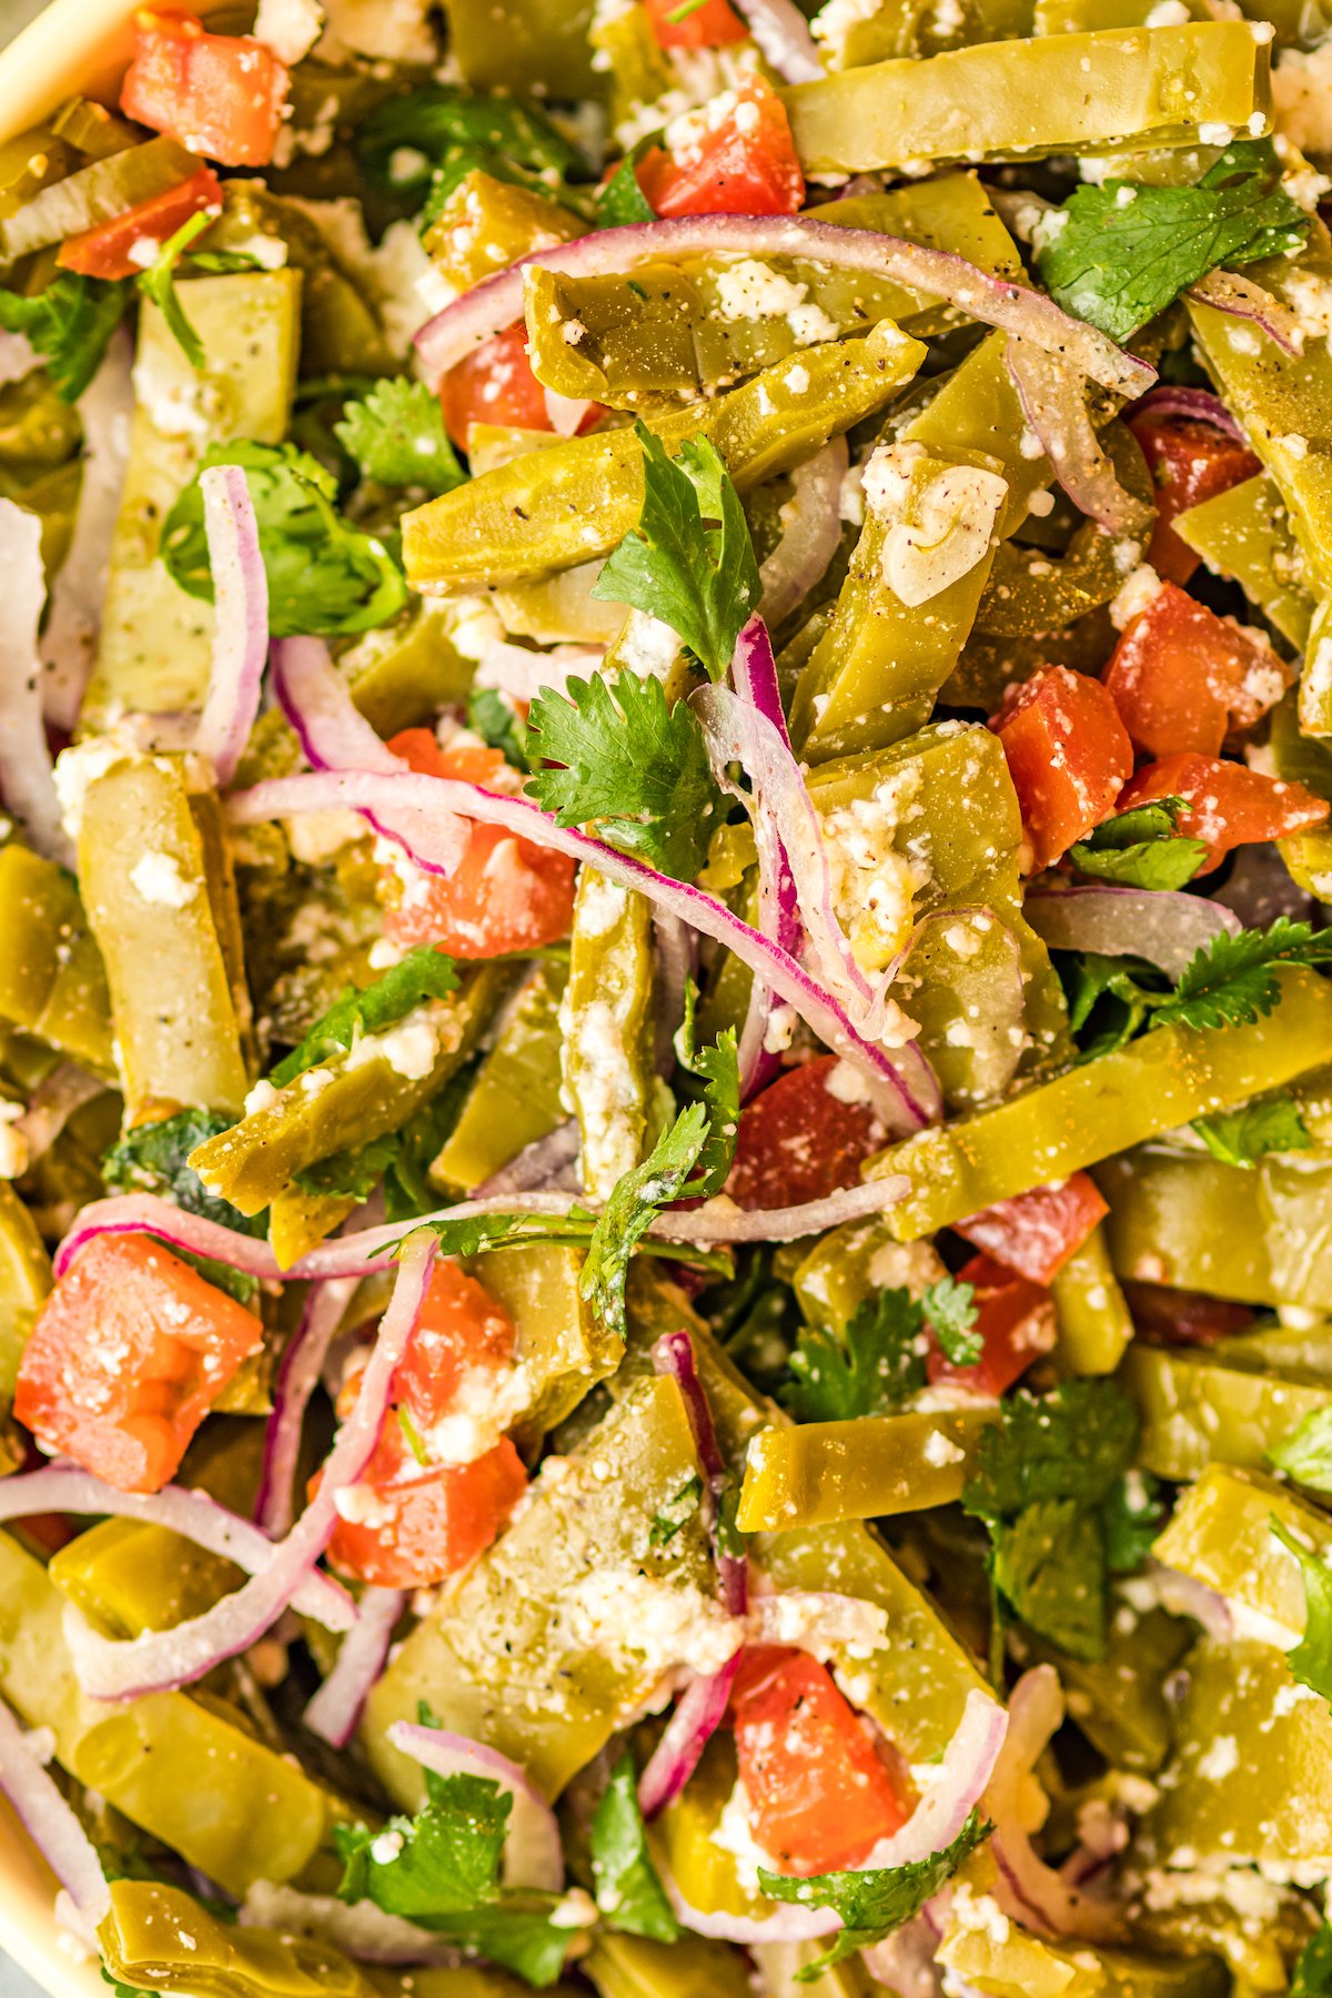
[[[1132,769],[1132,743],[1098,679],[1052,665],[991,719],[1004,745],[1032,865],[1048,867],[1110,811]]]

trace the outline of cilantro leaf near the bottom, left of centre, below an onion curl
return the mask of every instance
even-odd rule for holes
[[[425,1774],[415,1818],[389,1818],[383,1832],[333,1828],[341,1900],[373,1900],[385,1914],[427,1920],[463,1914],[499,1898],[499,1862],[513,1798],[485,1776]]]

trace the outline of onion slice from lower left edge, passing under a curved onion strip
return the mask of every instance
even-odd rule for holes
[[[166,1485],[160,1493],[122,1493],[74,1465],[50,1465],[0,1479],[0,1520],[32,1518],[34,1512],[108,1514],[166,1526],[210,1554],[236,1562],[246,1574],[262,1574],[276,1552],[266,1532],[238,1512],[228,1512],[208,1493],[184,1485]],[[355,1602],[330,1574],[310,1574],[292,1596],[292,1606],[326,1630],[349,1630],[355,1622]]]

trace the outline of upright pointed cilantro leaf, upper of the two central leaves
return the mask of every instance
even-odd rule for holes
[[[707,438],[681,444],[671,458],[645,424],[635,424],[635,434],[643,446],[643,511],[591,593],[659,617],[711,679],[725,679],[741,625],[761,595],[745,509]]]

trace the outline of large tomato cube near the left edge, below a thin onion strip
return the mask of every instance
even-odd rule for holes
[[[42,1305],[14,1415],[124,1493],[156,1493],[240,1363],[252,1311],[148,1235],[98,1235]]]

